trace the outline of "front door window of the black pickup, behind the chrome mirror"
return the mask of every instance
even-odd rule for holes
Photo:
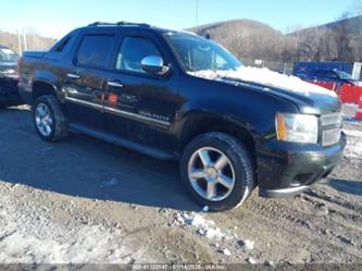
[[[146,38],[126,37],[117,54],[115,70],[146,73],[141,61],[146,57],[162,57],[157,46]]]

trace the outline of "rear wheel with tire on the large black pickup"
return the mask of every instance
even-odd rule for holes
[[[66,138],[68,122],[55,96],[38,97],[35,100],[33,112],[35,128],[43,140],[59,141]],[[40,114],[41,112],[43,115]],[[46,126],[49,126],[49,130]]]

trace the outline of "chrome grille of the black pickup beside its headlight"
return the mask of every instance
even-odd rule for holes
[[[332,113],[321,116],[322,125],[322,145],[330,146],[337,144],[340,139],[341,114]]]

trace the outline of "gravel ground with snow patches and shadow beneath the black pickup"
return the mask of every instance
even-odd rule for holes
[[[72,134],[42,141],[26,107],[0,111],[0,263],[360,262],[362,122],[328,180],[291,199],[255,190],[202,212],[177,165]]]

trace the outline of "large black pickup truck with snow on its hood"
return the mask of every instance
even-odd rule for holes
[[[20,91],[40,137],[85,133],[179,162],[194,198],[239,206],[255,186],[294,196],[326,177],[346,145],[333,91],[244,66],[186,32],[93,23],[25,52]]]

